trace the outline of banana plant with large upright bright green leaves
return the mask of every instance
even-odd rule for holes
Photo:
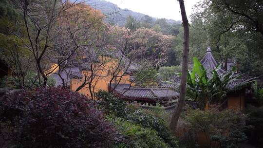
[[[218,65],[211,70],[211,76],[208,78],[207,70],[196,57],[193,58],[193,62],[192,72],[188,71],[187,96],[190,100],[196,101],[200,109],[204,109],[207,102],[212,99],[223,99],[226,92],[229,91],[227,84],[240,77],[234,73],[235,68],[226,74],[218,74],[217,71],[220,67]]]

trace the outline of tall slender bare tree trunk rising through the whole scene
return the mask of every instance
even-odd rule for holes
[[[183,111],[183,107],[185,105],[186,93],[187,93],[187,73],[188,73],[188,53],[189,53],[189,26],[188,19],[186,15],[186,9],[184,0],[179,0],[181,15],[184,26],[184,51],[183,51],[183,66],[182,66],[182,76],[181,76],[181,84],[180,84],[180,95],[177,101],[174,113],[170,122],[170,129],[175,130],[177,126],[177,122],[181,112]]]

